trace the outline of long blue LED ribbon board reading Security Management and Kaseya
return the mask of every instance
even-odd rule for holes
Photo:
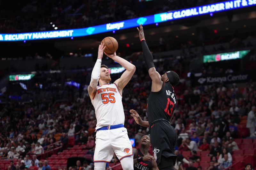
[[[59,30],[59,31],[43,31],[30,33],[14,33],[14,34],[0,34],[0,41],[26,41],[26,40],[42,40],[52,38],[68,38],[80,37],[98,33],[105,33],[109,31],[116,31],[131,27],[137,27],[139,24],[148,25],[158,22],[171,21],[174,19],[188,18],[214,12],[233,10],[237,8],[244,8],[256,5],[256,0],[231,0],[223,1],[214,4],[207,4],[193,8],[173,10],[169,12],[149,15],[140,18],[127,19],[123,21],[102,24],[98,26],[91,26],[87,28]]]

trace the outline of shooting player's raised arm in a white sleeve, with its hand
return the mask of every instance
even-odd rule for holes
[[[88,93],[89,93],[91,100],[93,99],[93,96],[97,90],[97,85],[98,85],[98,81],[100,78],[101,59],[102,59],[103,51],[105,48],[106,48],[106,46],[104,46],[104,44],[100,43],[99,50],[98,50],[98,58],[97,58],[97,61],[92,69],[91,82],[90,82],[90,85],[88,86]]]

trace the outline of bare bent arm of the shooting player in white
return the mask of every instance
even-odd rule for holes
[[[125,68],[124,73],[120,78],[118,78],[114,83],[116,83],[120,93],[122,94],[122,90],[127,85],[127,83],[131,80],[132,75],[134,74],[136,67],[132,63],[126,61],[125,59],[119,57],[116,55],[116,52],[114,54],[107,54],[104,52],[109,58],[112,58],[115,62],[119,63],[121,66]]]

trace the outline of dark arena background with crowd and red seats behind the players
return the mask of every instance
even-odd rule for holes
[[[136,66],[123,91],[133,148],[148,128],[151,79],[174,70],[176,170],[256,167],[255,0],[0,0],[0,169],[94,168],[96,117],[87,87],[105,37]],[[125,70],[103,55],[112,80]],[[113,83],[113,82],[112,82]],[[152,147],[149,153],[153,155]],[[106,169],[122,169],[114,155]]]

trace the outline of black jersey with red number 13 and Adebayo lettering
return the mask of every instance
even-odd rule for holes
[[[148,97],[148,122],[151,124],[157,119],[165,119],[170,122],[170,117],[177,106],[177,98],[172,85],[163,82],[159,92],[150,92]]]

